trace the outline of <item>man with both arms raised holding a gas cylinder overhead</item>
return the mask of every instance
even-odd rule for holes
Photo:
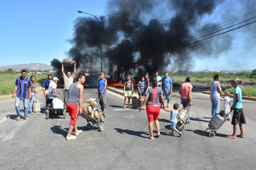
[[[67,108],[67,99],[68,99],[68,91],[69,91],[69,87],[70,85],[73,83],[74,81],[74,77],[76,75],[76,63],[74,64],[74,72],[73,74],[71,74],[70,71],[67,71],[67,75],[64,72],[64,66],[62,64],[61,67],[61,73],[62,73],[62,77],[64,79],[64,89],[63,89],[63,96],[64,96],[64,111]]]

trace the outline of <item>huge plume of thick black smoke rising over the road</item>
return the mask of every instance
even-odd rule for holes
[[[76,60],[78,67],[93,70],[100,63],[101,42],[103,63],[109,65],[111,76],[131,74],[131,71],[152,75],[155,71],[166,71],[168,65],[173,69],[189,69],[197,57],[195,54],[210,57],[230,49],[233,37],[229,34],[179,48],[193,39],[194,35],[190,34],[193,30],[216,24],[211,21],[201,24],[198,18],[211,14],[222,1],[173,0],[168,20],[153,18],[145,22],[154,4],[160,2],[169,1],[109,0],[110,14],[119,15],[99,17],[100,23],[90,16],[76,18],[69,57]],[[51,65],[57,70],[61,68],[56,59]]]

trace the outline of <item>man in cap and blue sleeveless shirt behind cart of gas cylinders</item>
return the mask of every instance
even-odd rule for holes
[[[103,113],[105,113],[105,111],[107,110],[106,92],[107,92],[107,79],[105,79],[104,73],[99,73],[99,82],[97,84],[96,93],[98,94],[99,98],[101,96],[99,100],[99,104]]]

